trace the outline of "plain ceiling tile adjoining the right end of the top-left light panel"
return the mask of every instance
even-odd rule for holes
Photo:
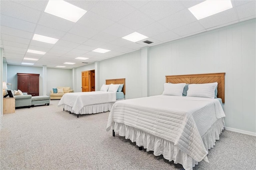
[[[78,20],[77,24],[81,26],[85,26],[86,28],[92,28],[99,31],[102,31],[115,22],[112,20],[108,20],[107,18],[104,18],[98,14],[94,14],[91,11],[86,12],[80,20]]]

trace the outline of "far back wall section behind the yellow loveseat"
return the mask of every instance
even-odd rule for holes
[[[47,68],[46,94],[50,96],[50,90],[57,87],[73,89],[72,69]]]

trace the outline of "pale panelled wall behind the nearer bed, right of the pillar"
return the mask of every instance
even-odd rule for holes
[[[226,127],[256,132],[256,22],[250,20],[150,48],[150,95],[165,75],[225,72]]]

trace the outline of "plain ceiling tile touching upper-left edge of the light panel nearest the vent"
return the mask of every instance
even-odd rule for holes
[[[110,34],[112,36],[122,38],[124,36],[127,36],[128,34],[131,34],[131,33],[135,32],[135,31],[128,28],[128,27],[122,26],[121,24],[115,23],[112,26],[103,30],[102,32],[105,32],[105,33]]]

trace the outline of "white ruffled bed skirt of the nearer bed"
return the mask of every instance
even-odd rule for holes
[[[113,128],[114,127],[114,128]],[[207,131],[202,135],[205,148],[208,150],[215,145],[219,139],[220,133],[225,127],[224,119],[218,119]],[[180,150],[173,142],[164,140],[142,130],[124,125],[122,123],[112,123],[112,129],[119,132],[119,136],[125,136],[132,142],[136,142],[137,146],[143,146],[146,151],[154,151],[155,156],[163,155],[165,159],[174,163],[182,164],[185,170],[192,170],[198,164],[191,156]],[[208,162],[207,157],[204,159]]]

